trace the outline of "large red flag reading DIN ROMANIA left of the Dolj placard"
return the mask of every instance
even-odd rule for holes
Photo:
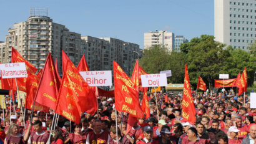
[[[143,118],[144,112],[140,108],[139,99],[136,96],[135,84],[117,62],[113,62],[113,67],[116,109],[119,112],[127,112],[134,117]]]

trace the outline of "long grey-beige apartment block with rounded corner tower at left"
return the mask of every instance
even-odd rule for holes
[[[112,70],[112,60],[115,60],[129,74],[132,62],[138,59],[133,52],[141,51],[137,44],[111,37],[81,37],[81,34],[53,22],[47,15],[45,8],[43,11],[42,7],[34,7],[27,21],[14,24],[8,30],[6,42],[0,43],[0,62],[11,62],[11,47],[14,47],[22,57],[41,69],[51,52],[53,59],[58,60],[59,72],[62,74],[61,51],[64,50],[75,65],[85,54],[90,70]]]

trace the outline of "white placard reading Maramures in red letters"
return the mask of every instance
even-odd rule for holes
[[[0,64],[2,79],[27,77],[25,62]]]

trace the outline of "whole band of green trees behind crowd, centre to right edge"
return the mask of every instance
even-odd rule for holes
[[[173,84],[184,83],[184,68],[187,64],[192,87],[197,87],[200,75],[211,89],[214,87],[214,79],[219,79],[219,74],[229,74],[229,78],[233,79],[247,67],[248,85],[251,86],[256,70],[256,41],[248,49],[249,52],[226,47],[214,41],[214,36],[202,35],[182,44],[180,52],[169,52],[165,46],[160,45],[144,49],[139,64],[149,74],[172,70],[168,82]]]

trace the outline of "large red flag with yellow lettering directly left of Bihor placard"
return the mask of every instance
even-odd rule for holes
[[[67,60],[65,70],[57,98],[56,113],[63,115],[72,122],[79,123],[81,112],[84,110],[94,115],[97,109],[96,101],[94,102],[93,98],[89,97],[89,89],[91,88],[88,87],[70,60]],[[93,91],[91,90],[91,92]],[[62,95],[66,95],[66,97],[62,97]],[[91,107],[92,103],[94,103],[93,107]]]

